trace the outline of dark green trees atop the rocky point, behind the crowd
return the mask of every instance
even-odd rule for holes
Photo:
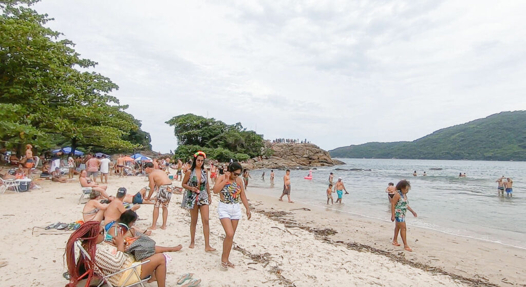
[[[214,118],[194,114],[178,115],[166,122],[177,138],[175,157],[186,159],[201,150],[219,161],[245,161],[261,155],[263,136],[247,131],[241,123],[228,125]]]

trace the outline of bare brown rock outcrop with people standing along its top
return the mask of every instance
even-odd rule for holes
[[[343,164],[331,159],[328,152],[315,144],[279,143],[269,146],[274,153],[262,161],[250,160],[249,169],[286,169]]]

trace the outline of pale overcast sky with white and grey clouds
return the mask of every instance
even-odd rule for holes
[[[330,150],[526,110],[526,1],[150,3],[35,8],[119,85],[156,151],[185,113]]]

